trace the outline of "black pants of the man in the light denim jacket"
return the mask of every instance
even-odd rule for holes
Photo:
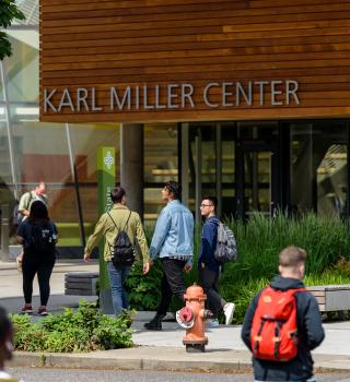
[[[184,282],[184,266],[186,261],[163,258],[163,278],[162,278],[162,298],[158,307],[158,314],[166,314],[167,309],[172,302],[172,297],[177,296],[185,302],[185,282]]]

